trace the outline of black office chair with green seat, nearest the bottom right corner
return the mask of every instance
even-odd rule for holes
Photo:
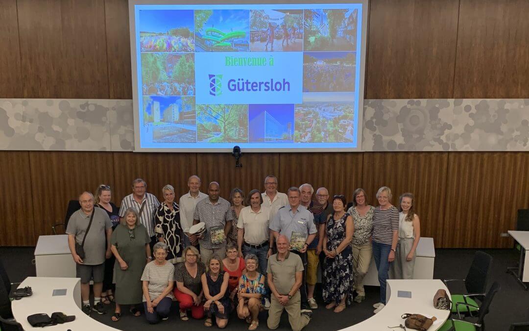
[[[475,307],[475,309],[478,312],[478,320],[476,323],[471,323],[466,320],[461,319],[461,315],[459,315],[459,310],[461,307],[469,306],[469,303],[454,303],[454,305],[458,309],[458,315],[459,319],[449,319],[447,320],[439,330],[437,331],[482,331],[485,329],[485,316],[489,312],[490,304],[492,303],[492,299],[494,299],[494,296],[496,293],[500,290],[500,285],[498,282],[492,283],[492,286],[490,287],[487,294],[485,294],[485,298],[483,299],[483,303],[481,304],[481,307]]]

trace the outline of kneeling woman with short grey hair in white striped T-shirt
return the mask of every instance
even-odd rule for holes
[[[145,265],[143,282],[143,307],[150,324],[166,320],[172,300],[172,287],[175,284],[175,266],[166,260],[167,245],[156,243],[153,247],[154,261]]]

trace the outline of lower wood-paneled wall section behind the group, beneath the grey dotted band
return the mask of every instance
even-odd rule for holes
[[[500,234],[515,227],[517,209],[529,208],[529,153],[248,153],[241,163],[235,168],[229,153],[0,151],[0,246],[35,245],[62,222],[68,200],[99,184],[112,187],[119,205],[136,177],[159,199],[166,184],[186,193],[193,174],[204,192],[218,181],[226,199],[233,187],[263,190],[268,174],[279,178],[282,192],[311,183],[351,199],[363,187],[373,204],[386,185],[394,204],[404,192],[415,194],[422,235],[436,247],[510,247]]]

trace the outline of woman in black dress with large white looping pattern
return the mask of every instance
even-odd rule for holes
[[[156,232],[158,242],[165,243],[168,247],[167,260],[176,264],[184,261],[180,208],[175,202],[175,189],[171,185],[163,186],[162,194],[163,202],[154,214],[154,232]]]

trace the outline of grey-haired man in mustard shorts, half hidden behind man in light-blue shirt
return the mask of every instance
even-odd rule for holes
[[[311,309],[318,308],[316,299],[314,299],[314,288],[318,277],[318,263],[320,262],[318,256],[323,248],[323,236],[325,235],[325,211],[319,202],[312,200],[314,194],[314,187],[311,184],[303,184],[299,186],[301,192],[300,204],[312,212],[314,216],[314,225],[317,232],[316,237],[307,247],[307,302]]]

